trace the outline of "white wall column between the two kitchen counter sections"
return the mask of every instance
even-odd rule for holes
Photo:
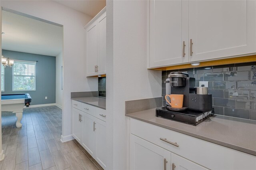
[[[108,169],[128,169],[124,101],[161,97],[162,73],[147,69],[147,9],[145,0],[107,1]]]

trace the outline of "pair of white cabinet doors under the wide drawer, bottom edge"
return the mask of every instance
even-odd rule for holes
[[[130,134],[130,170],[207,170],[207,168]]]

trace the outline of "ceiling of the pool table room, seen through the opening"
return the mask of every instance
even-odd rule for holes
[[[63,28],[2,11],[2,49],[57,56],[63,47]]]

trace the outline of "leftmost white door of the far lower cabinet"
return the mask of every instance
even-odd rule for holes
[[[82,139],[82,123],[79,121],[81,113],[80,110],[72,108],[72,134],[79,143]]]

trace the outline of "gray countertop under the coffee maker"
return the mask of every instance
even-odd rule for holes
[[[156,109],[126,114],[133,119],[256,156],[256,121],[214,115],[210,120],[193,126],[155,115]]]

